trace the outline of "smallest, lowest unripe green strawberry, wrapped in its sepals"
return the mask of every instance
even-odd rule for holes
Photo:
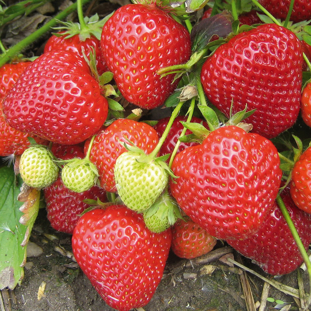
[[[182,217],[176,201],[167,192],[160,195],[143,216],[146,227],[155,233],[165,231]]]

